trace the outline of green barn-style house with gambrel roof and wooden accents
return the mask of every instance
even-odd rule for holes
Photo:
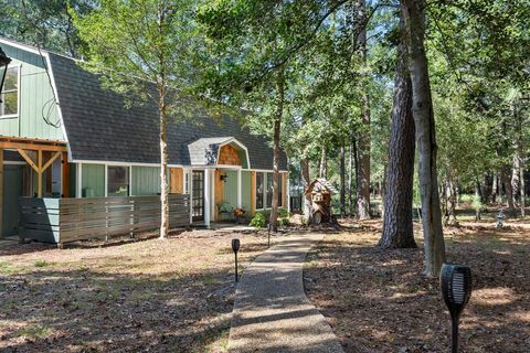
[[[17,234],[18,200],[160,193],[158,114],[125,108],[70,57],[0,39],[12,62],[0,104],[1,236]],[[189,194],[190,222],[271,207],[273,150],[234,118],[198,114],[168,125],[170,193]],[[287,158],[280,203],[288,207]],[[0,236],[0,237],[1,237]]]

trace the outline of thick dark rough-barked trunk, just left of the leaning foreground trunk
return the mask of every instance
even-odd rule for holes
[[[403,35],[404,21],[400,28]],[[414,185],[414,119],[412,117],[412,84],[407,69],[406,46],[398,47],[394,77],[394,101],[390,129],[389,164],[384,192],[382,248],[417,247],[412,226]]]

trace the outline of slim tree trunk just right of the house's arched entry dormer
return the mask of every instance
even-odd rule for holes
[[[276,114],[273,127],[273,200],[271,207],[271,228],[278,232],[278,204],[279,204],[279,138],[282,132],[282,118],[284,116],[284,69],[280,67],[276,81]]]

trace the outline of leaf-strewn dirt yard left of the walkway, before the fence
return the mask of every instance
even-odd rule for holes
[[[1,352],[223,352],[241,269],[264,234],[186,232],[102,247],[0,248]]]

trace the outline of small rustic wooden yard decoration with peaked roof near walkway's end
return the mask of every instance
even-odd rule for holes
[[[331,222],[331,195],[336,193],[337,190],[333,188],[333,185],[331,185],[331,183],[324,178],[315,179],[309,184],[309,188],[306,190],[306,194],[311,195],[311,218],[314,224]]]

